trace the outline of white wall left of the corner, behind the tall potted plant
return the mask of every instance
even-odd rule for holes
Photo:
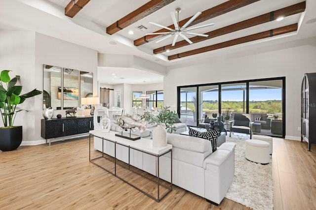
[[[9,73],[11,79],[15,75],[20,75],[20,82],[23,86],[22,93],[29,92],[33,89],[42,90],[42,78],[38,81],[35,77],[35,33],[29,31],[6,31],[0,30],[0,70],[12,70]],[[39,106],[36,104],[39,103]],[[36,113],[42,112],[42,96],[37,95],[27,98],[18,109],[28,110],[29,112],[17,113],[14,125],[23,126],[23,142],[27,140],[39,139],[40,133],[35,132]],[[1,120],[0,126],[3,126]],[[37,137],[36,137],[37,136]]]

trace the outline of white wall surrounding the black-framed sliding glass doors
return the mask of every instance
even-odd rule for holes
[[[177,105],[177,86],[286,77],[285,138],[300,140],[300,91],[304,73],[316,72],[316,37],[169,67],[164,105]]]

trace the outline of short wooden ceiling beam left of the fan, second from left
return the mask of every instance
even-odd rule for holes
[[[132,25],[133,23],[141,20],[147,15],[152,14],[153,12],[171,3],[172,1],[175,0],[151,0],[142,5],[141,7],[139,7],[138,9],[132,11],[125,17],[119,19],[117,22],[111,24],[109,27],[107,27],[107,33],[112,35],[118,32],[119,30],[122,30]]]

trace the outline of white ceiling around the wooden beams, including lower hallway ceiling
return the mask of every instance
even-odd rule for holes
[[[262,46],[275,45],[277,43],[316,36],[316,0],[306,0],[305,12],[285,17],[283,21],[271,21],[256,27],[236,31],[174,49],[169,53],[165,52],[159,55],[153,54],[153,49],[171,44],[173,38],[170,37],[159,43],[152,41],[139,47],[136,47],[133,44],[133,40],[145,36],[145,33],[154,32],[160,29],[157,26],[150,25],[150,21],[163,26],[169,26],[172,25],[169,12],[174,11],[177,7],[182,9],[179,14],[180,20],[182,20],[193,16],[197,11],[202,12],[220,3],[226,2],[226,0],[175,0],[113,35],[106,33],[106,28],[108,26],[112,25],[117,20],[136,10],[148,1],[149,0],[90,0],[90,2],[88,2],[74,18],[69,18],[64,15],[64,8],[70,0],[1,0],[0,30],[37,31],[81,46],[95,49],[102,54],[133,55],[166,67],[183,65],[197,60],[205,60],[218,55],[227,55],[234,53],[234,51],[237,50],[240,51],[240,49],[260,48]],[[202,22],[198,25],[204,25],[211,22],[215,25],[198,30],[192,30],[192,32],[205,33],[211,30],[216,30],[261,14],[299,3],[301,1],[303,0],[259,0],[237,10]],[[278,35],[272,38],[252,41],[250,43],[239,44],[226,49],[205,52],[181,59],[167,59],[167,56],[170,55],[293,23],[299,23],[299,30],[298,32],[290,33],[290,35]],[[146,31],[135,29],[139,25],[144,25],[149,29]],[[130,35],[128,33],[129,30],[133,30],[134,34]],[[190,38],[191,36],[188,35],[188,37]],[[178,41],[180,40],[181,39],[178,38]],[[112,45],[110,42],[116,42],[117,44]],[[126,78],[124,79],[126,80],[124,83],[129,84],[141,84],[142,81],[157,83],[162,82],[163,78],[161,74],[154,74],[153,72],[145,74],[146,71],[144,70],[137,71],[138,69],[130,68],[115,69],[110,67],[100,67],[98,70],[99,72],[103,71],[102,78],[98,78],[98,80],[102,83],[112,82],[112,84],[118,84],[112,81],[111,78],[112,73],[118,73],[118,71],[119,74],[122,75],[120,77]],[[130,72],[134,73],[130,74]],[[106,78],[110,78],[110,80]],[[130,80],[127,81],[127,78]]]

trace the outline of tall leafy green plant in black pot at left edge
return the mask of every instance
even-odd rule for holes
[[[22,86],[16,86],[20,76],[10,78],[11,70],[2,70],[0,73],[0,113],[3,121],[3,127],[0,127],[0,150],[11,151],[17,149],[22,142],[22,126],[14,126],[14,119],[18,112],[15,110],[18,104],[25,101],[26,98],[39,95],[40,90],[32,90],[20,95]],[[25,110],[27,111],[27,110]]]

